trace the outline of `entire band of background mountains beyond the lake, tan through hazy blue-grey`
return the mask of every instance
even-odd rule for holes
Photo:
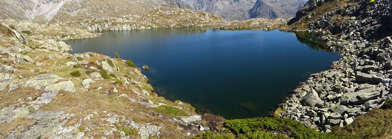
[[[142,15],[160,7],[201,10],[226,20],[289,19],[302,0],[0,0],[0,20],[53,23]]]

